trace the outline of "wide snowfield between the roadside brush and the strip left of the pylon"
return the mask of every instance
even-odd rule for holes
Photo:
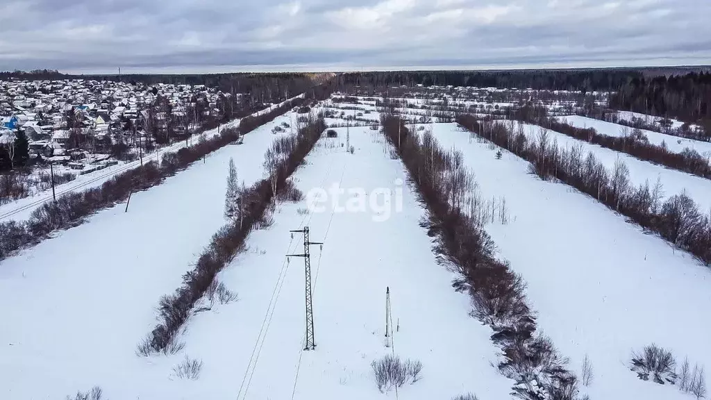
[[[180,399],[172,360],[137,357],[154,307],[224,223],[225,177],[262,178],[277,117],[169,177],[0,264],[0,398],[63,399],[99,385],[109,399]],[[286,133],[281,134],[286,135]],[[165,384],[159,384],[164,382]]]

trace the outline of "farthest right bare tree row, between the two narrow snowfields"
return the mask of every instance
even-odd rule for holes
[[[555,132],[585,140],[593,144],[623,152],[644,161],[661,164],[665,167],[678,169],[706,179],[711,179],[711,164],[709,160],[693,149],[685,149],[683,152],[671,152],[667,147],[651,144],[647,141],[642,132],[626,130],[626,134],[621,137],[600,135],[592,128],[579,128],[560,122],[555,118],[548,117],[545,107],[523,107],[515,115],[515,118],[522,122],[540,125]]]

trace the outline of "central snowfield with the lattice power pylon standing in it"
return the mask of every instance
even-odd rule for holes
[[[395,180],[405,178],[400,162],[388,156],[380,132],[351,128],[355,154],[333,146],[345,142],[345,132],[338,128],[338,139],[321,140],[306,167],[296,172],[294,179],[304,193],[340,183],[346,189],[341,196],[344,206],[347,199],[355,201],[347,195],[348,189],[363,189],[368,194],[363,199],[370,201],[374,189],[394,189]],[[383,199],[378,204],[384,204]],[[451,399],[472,391],[481,399],[508,399],[512,382],[489,364],[496,359],[491,332],[469,317],[469,298],[454,292],[453,275],[437,265],[429,238],[418,225],[424,211],[409,189],[403,189],[402,211],[382,222],[373,220],[383,215],[375,212],[378,204],[375,211],[335,213],[330,204],[324,204],[324,212],[306,215],[298,212],[307,208],[306,199],[282,204],[274,214],[274,226],[253,233],[247,253],[220,275],[240,300],[191,320],[183,338],[185,352],[203,359],[205,366],[201,380],[187,385],[186,398],[292,399],[294,394],[293,399],[301,400],[362,400],[383,396],[375,387],[370,363],[390,352],[383,337],[385,288],[389,286],[392,320],[400,325],[395,352],[424,365],[422,381],[400,389],[401,398]],[[311,248],[315,352],[301,352],[303,260],[294,258],[287,264],[284,257],[303,251],[301,236],[295,234],[292,239],[289,230],[305,224],[311,230],[311,241],[325,243],[322,250]],[[279,297],[269,307],[272,293]],[[269,329],[260,334],[263,325]]]

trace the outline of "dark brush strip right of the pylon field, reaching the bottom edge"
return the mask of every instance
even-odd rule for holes
[[[461,273],[454,288],[469,293],[474,317],[496,332],[491,339],[503,349],[498,368],[516,381],[513,395],[575,399],[577,377],[550,339],[535,332],[523,279],[496,258],[494,243],[483,231],[474,175],[464,167],[461,153],[444,151],[427,132],[420,138],[400,117],[383,115],[381,125],[429,211],[422,226],[434,238],[439,261]]]

